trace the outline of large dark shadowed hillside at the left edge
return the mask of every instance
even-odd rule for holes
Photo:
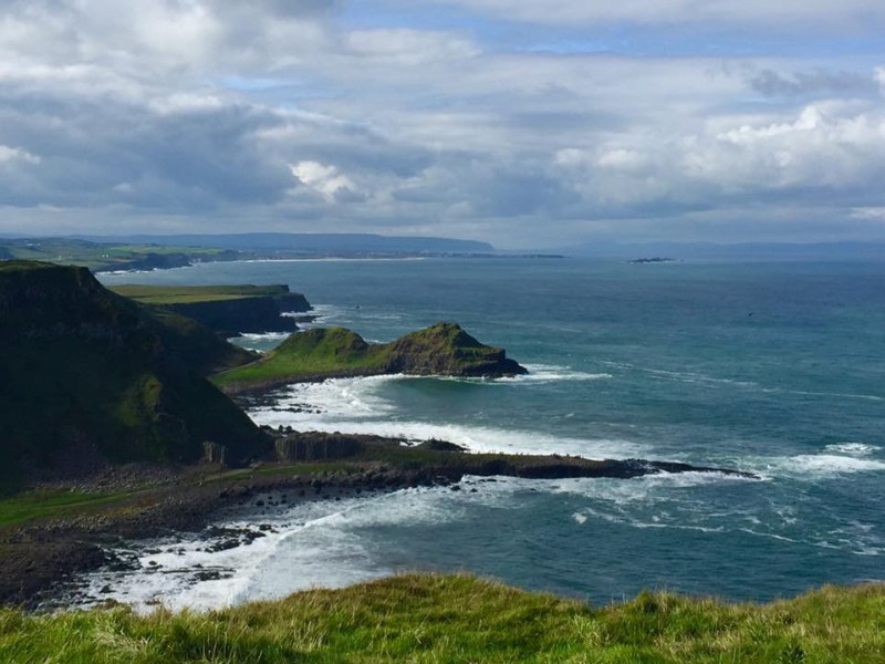
[[[231,461],[264,435],[204,376],[251,360],[198,323],[152,312],[85,268],[0,262],[0,479],[107,461]]]

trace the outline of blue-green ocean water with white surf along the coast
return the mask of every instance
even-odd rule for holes
[[[217,552],[196,538],[136,547],[142,570],[94,575],[93,596],[211,608],[404,570],[467,570],[593,603],[643,589],[762,601],[885,579],[885,262],[323,260],[102,280],[288,283],[315,324],[388,341],[456,321],[531,372],[293,385],[250,412],[261,424],[760,479],[467,478],[459,491],[252,509],[223,520],[263,523],[267,537]]]

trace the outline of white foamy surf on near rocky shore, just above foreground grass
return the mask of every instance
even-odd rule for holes
[[[367,581],[394,573],[396,568],[395,561],[378,560],[365,547],[362,531],[366,528],[407,529],[451,521],[462,518],[468,502],[483,499],[494,504],[499,496],[417,488],[301,502],[270,516],[258,515],[253,508],[218,526],[250,529],[260,523],[264,537],[225,550],[211,550],[211,542],[200,536],[153,540],[140,542],[137,550],[117,550],[134,559],[136,569],[88,575],[79,601],[115,600],[139,612],[157,605],[199,611]],[[221,578],[206,578],[215,572]]]

